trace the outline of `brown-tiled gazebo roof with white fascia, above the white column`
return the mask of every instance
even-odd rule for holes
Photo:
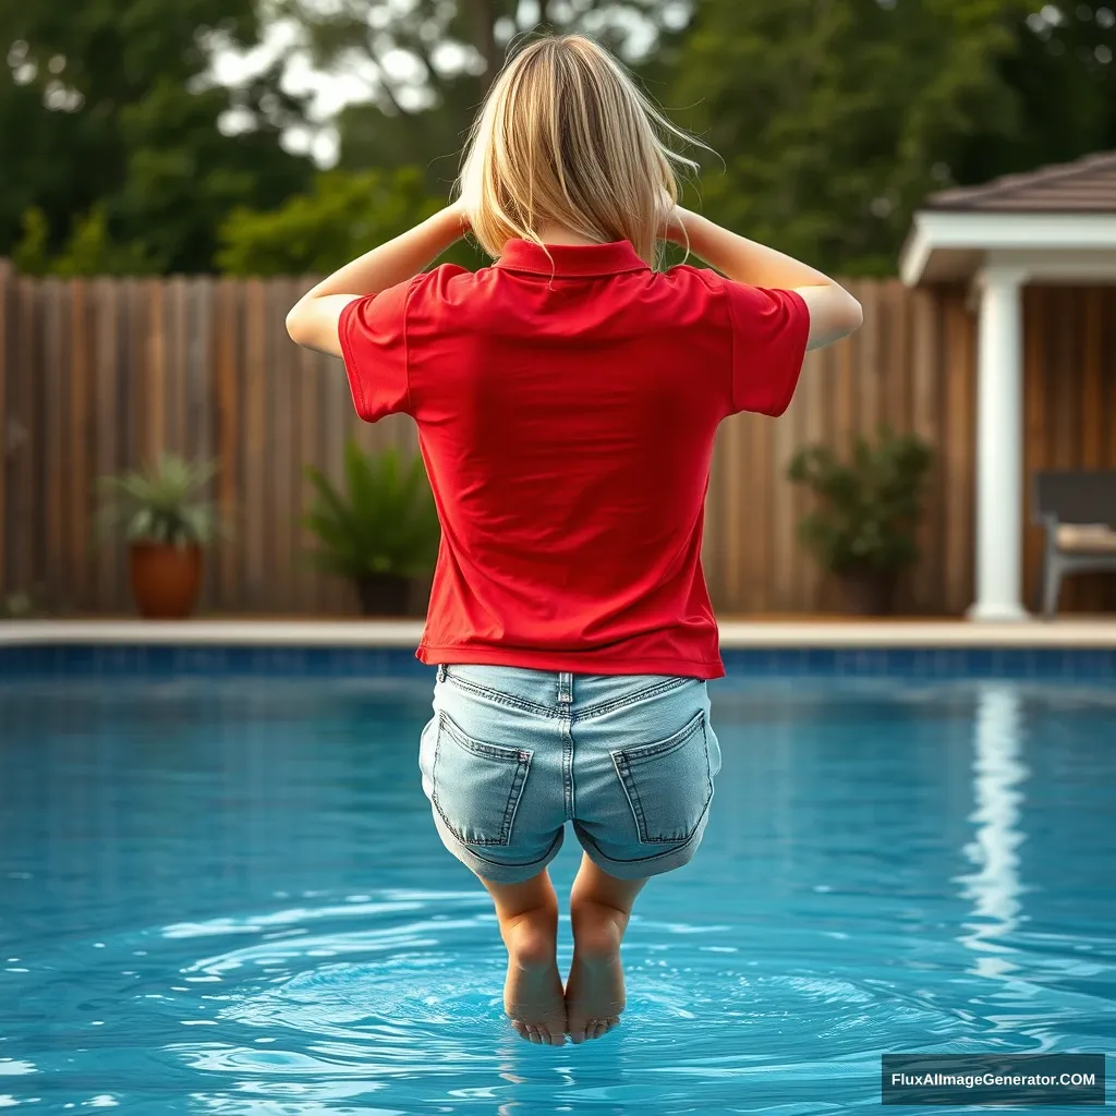
[[[1031,282],[1116,282],[1116,152],[931,194],[899,254],[908,285],[989,267]]]

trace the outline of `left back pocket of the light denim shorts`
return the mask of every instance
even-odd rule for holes
[[[509,845],[531,752],[465,735],[439,713],[431,801],[465,845]]]

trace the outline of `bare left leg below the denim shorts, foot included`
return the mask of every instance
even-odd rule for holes
[[[480,878],[496,902],[508,947],[503,1008],[512,1027],[540,1046],[566,1041],[566,1003],[558,974],[558,896],[543,869],[522,884]]]

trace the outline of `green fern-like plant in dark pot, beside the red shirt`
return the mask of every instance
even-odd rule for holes
[[[404,616],[413,580],[437,559],[441,525],[420,455],[404,463],[393,446],[376,458],[345,446],[344,491],[312,465],[316,499],[306,526],[314,561],[356,586],[366,616]]]

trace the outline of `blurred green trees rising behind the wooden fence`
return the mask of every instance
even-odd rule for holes
[[[238,275],[331,270],[446,195],[508,42],[549,25],[618,49],[715,148],[689,204],[830,271],[892,273],[929,192],[1116,147],[1112,10],[11,0],[0,3],[0,256],[30,273],[205,272],[219,249]],[[208,76],[219,46],[251,48],[281,18],[319,66],[369,75],[369,100],[334,122],[336,177],[316,180],[280,144],[307,117],[281,87],[287,58],[232,90]],[[481,260],[464,247],[450,258]]]

